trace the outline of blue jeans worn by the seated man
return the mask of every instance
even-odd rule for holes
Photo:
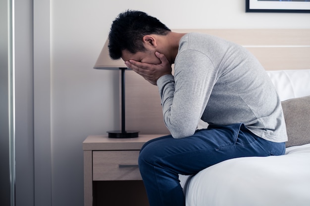
[[[182,139],[168,135],[150,140],[141,149],[139,169],[150,206],[185,206],[178,174],[196,174],[232,158],[284,153],[285,143],[264,140],[244,124],[209,126]]]

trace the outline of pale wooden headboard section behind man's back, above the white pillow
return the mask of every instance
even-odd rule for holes
[[[203,29],[200,32],[233,41],[250,50],[266,70],[310,68],[310,29]]]

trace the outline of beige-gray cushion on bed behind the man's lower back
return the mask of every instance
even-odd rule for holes
[[[310,96],[282,102],[288,141],[286,147],[310,143]]]

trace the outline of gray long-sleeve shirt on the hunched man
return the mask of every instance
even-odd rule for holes
[[[195,133],[199,120],[244,123],[254,134],[287,141],[281,102],[258,60],[235,43],[206,34],[182,37],[174,76],[157,80],[164,123],[174,138]]]

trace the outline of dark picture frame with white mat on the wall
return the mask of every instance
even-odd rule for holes
[[[310,13],[310,0],[246,0],[246,12]]]

